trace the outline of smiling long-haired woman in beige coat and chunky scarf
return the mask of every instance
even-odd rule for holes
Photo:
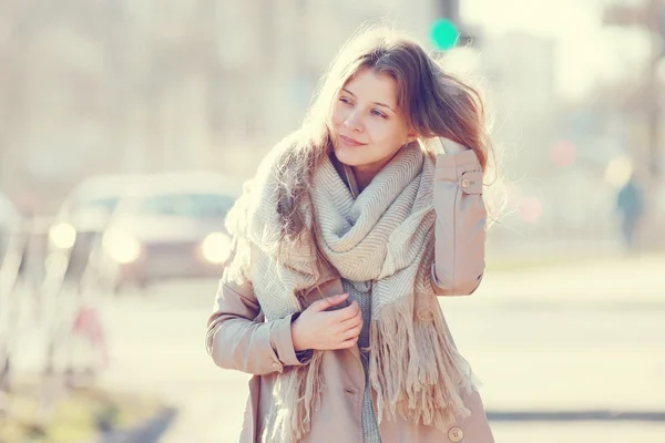
[[[227,218],[207,350],[255,375],[242,442],[493,442],[437,300],[482,278],[483,119],[407,37],[340,51]]]

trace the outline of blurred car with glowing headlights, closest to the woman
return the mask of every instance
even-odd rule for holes
[[[119,204],[103,238],[114,290],[165,279],[218,277],[231,247],[226,214],[242,184],[213,173],[156,175]]]

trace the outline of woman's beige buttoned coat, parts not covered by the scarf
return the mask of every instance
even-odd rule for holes
[[[470,295],[484,270],[485,208],[482,173],[472,151],[440,154],[437,158],[434,209],[437,212],[436,265],[432,279],[440,296]],[[317,289],[315,291],[315,289]],[[342,293],[335,270],[325,272],[304,305]],[[222,277],[215,308],[208,319],[206,347],[214,362],[224,369],[254,374],[245,410],[242,443],[259,441],[264,418],[272,404],[277,373],[301,363],[294,351],[291,318],[263,321],[260,306],[250,281]],[[327,351],[323,373],[326,391],[320,409],[313,415],[311,432],[303,443],[361,443],[361,406],[365,371],[358,348]],[[482,401],[477,392],[464,396],[472,411],[469,419],[448,432],[398,419],[379,423],[383,443],[493,443]]]

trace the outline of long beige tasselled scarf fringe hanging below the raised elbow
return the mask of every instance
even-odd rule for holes
[[[457,352],[440,308],[429,312],[428,319],[416,317],[413,297],[403,297],[372,316],[369,380],[379,423],[400,414],[447,431],[471,414],[460,389],[474,390],[477,381]]]

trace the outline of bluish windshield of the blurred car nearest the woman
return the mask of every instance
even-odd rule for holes
[[[233,197],[221,194],[165,194],[145,198],[139,206],[139,214],[193,218],[224,217],[233,204]]]

